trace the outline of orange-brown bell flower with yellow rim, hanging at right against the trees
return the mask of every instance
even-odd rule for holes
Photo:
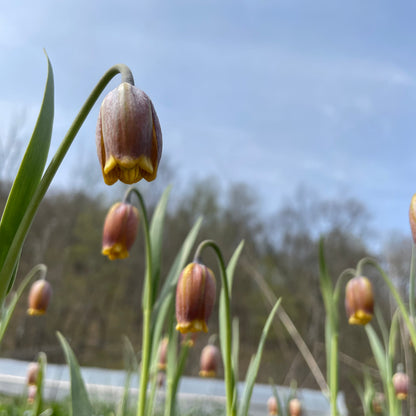
[[[363,276],[352,278],[345,288],[345,309],[351,325],[368,324],[374,312],[371,282]]]

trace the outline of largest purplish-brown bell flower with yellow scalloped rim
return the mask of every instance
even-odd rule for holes
[[[155,179],[162,131],[150,98],[127,82],[108,93],[98,115],[96,144],[107,185]]]

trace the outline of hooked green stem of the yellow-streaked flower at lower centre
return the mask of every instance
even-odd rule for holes
[[[234,400],[234,374],[232,368],[232,352],[231,352],[231,308],[230,308],[230,290],[228,286],[227,279],[227,270],[225,267],[224,259],[221,253],[220,248],[213,240],[205,240],[198,246],[195,259],[199,259],[200,253],[205,247],[211,247],[218,259],[218,264],[220,267],[221,283],[222,289],[224,291],[224,313],[226,315],[225,319],[225,340],[224,341],[224,350],[223,350],[223,362],[224,362],[224,378],[225,378],[225,392],[226,392],[226,401],[227,401],[227,416],[235,416],[237,414],[237,409],[235,407]]]

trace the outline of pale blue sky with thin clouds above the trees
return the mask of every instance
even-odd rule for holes
[[[411,1],[7,2],[0,132],[24,109],[30,133],[46,76],[42,48],[55,73],[55,148],[102,73],[123,62],[155,105],[175,186],[207,175],[246,182],[272,212],[303,185],[363,201],[385,235],[407,232],[415,17]],[[57,183],[85,155],[96,162],[97,114]]]

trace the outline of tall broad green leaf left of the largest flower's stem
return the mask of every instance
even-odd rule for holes
[[[47,61],[48,76],[39,117],[13,182],[0,222],[0,303],[4,299],[6,289],[10,287],[9,281],[18,261],[21,246],[17,247],[13,253],[9,253],[9,249],[40,182],[49,153],[54,115],[54,82],[52,66],[48,57]],[[8,256],[12,256],[11,261],[8,262],[10,266],[3,268]]]

